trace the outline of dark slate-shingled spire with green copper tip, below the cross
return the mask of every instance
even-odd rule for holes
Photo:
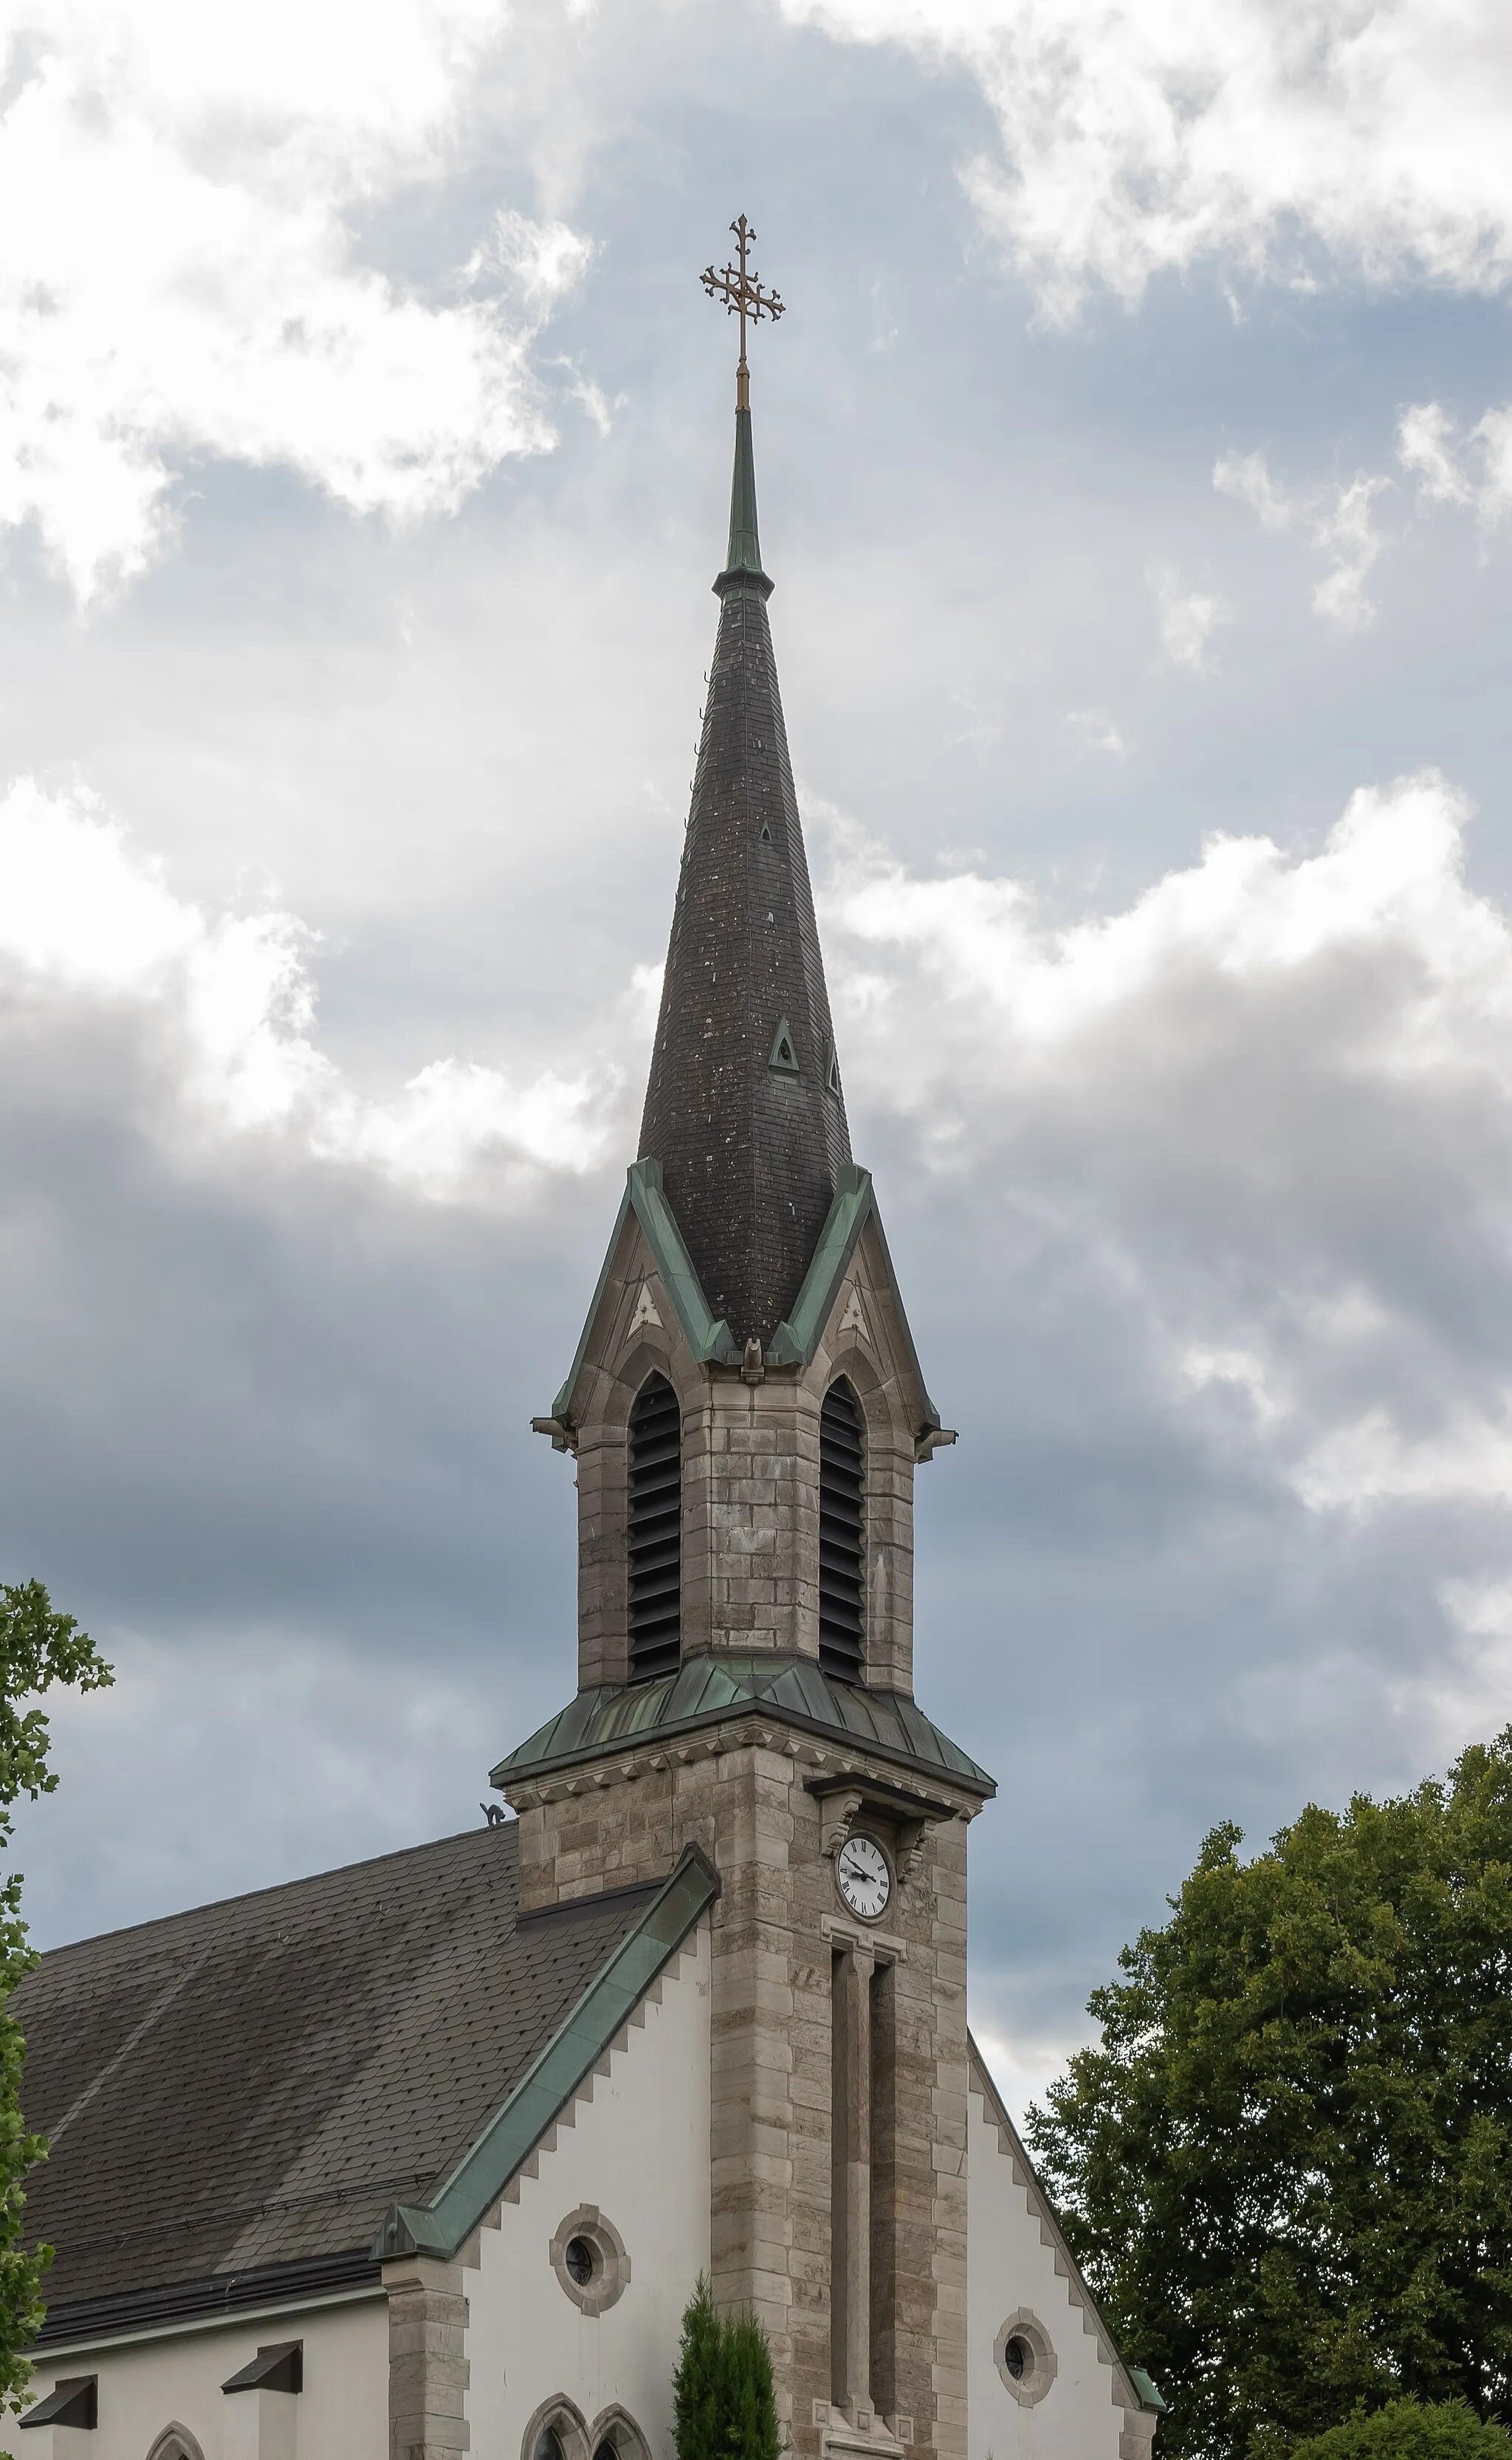
[[[745,386],[740,386],[745,394]],[[804,831],[767,627],[750,408],[642,1122],[715,1316],[784,1321],[851,1159]]]

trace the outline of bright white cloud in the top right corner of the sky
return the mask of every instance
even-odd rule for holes
[[[1205,258],[1310,283],[1497,290],[1512,273],[1500,0],[784,0],[858,42],[954,57],[1006,160],[986,229],[1052,317]]]

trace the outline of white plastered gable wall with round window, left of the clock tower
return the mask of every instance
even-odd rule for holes
[[[652,2460],[671,2460],[681,2320],[708,2271],[708,2012],[703,1919],[497,2207],[497,2226],[479,2229],[477,2271],[465,2273],[472,2460],[521,2460],[531,2418],[558,2394],[590,2435],[620,2406]],[[580,2312],[551,2263],[561,2221],[583,2204],[629,2256],[629,2283],[602,2315]]]

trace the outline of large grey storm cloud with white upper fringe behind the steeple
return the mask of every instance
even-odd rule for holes
[[[52,829],[120,908],[42,964],[12,883],[5,1545],[120,1660],[30,1820],[52,1926],[465,1820],[570,1688],[568,1464],[526,1419],[647,1028],[565,1112],[494,1085],[406,1141],[406,1095],[320,1050],[288,918],[224,1014],[224,918],[98,812],[30,824],[32,878]],[[1463,829],[1401,780],[1313,854],[1217,836],[1069,925],[816,831],[856,1141],[964,1437],[919,1478],[919,1690],[1003,1781],[976,1958],[1010,2066],[1207,1823],[1500,1722],[1512,927]]]

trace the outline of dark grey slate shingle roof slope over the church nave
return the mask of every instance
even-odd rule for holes
[[[654,1894],[521,1921],[516,1830],[477,1828],[54,1948],[12,2000],[54,2140],[27,2182],[52,2332],[81,2300],[366,2258]]]

